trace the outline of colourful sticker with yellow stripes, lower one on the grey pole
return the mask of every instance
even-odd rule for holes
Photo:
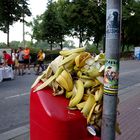
[[[108,59],[105,64],[104,73],[104,93],[117,94],[119,79],[119,62],[114,59]]]

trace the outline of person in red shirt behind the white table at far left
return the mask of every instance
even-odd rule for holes
[[[8,65],[8,66],[12,67],[12,65],[13,65],[12,57],[5,50],[3,51],[3,59],[4,59],[3,66]]]

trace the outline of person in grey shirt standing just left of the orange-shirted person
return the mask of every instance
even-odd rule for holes
[[[23,52],[23,48],[20,47],[18,49],[18,75],[23,75],[24,74],[24,52]]]

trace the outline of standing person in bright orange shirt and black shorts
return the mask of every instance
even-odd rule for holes
[[[26,46],[24,49],[24,70],[30,74],[30,49]]]

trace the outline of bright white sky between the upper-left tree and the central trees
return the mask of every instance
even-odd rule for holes
[[[32,17],[28,18],[29,21],[32,20],[36,15],[42,14],[46,9],[47,0],[29,0],[29,7],[32,12]],[[22,41],[22,23],[15,23],[13,26],[10,26],[10,41],[17,40]],[[27,31],[27,27],[25,27],[25,32]],[[25,39],[29,40],[29,36],[25,36]],[[6,42],[7,36],[6,34],[0,31],[0,42]]]

